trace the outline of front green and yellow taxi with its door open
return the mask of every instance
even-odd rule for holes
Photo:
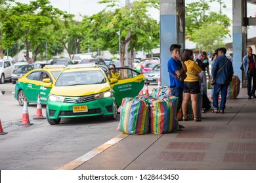
[[[117,118],[123,97],[135,97],[144,86],[144,76],[118,68],[121,79],[109,78],[98,65],[73,65],[64,69],[49,94],[46,117],[49,124],[61,118],[106,116]]]

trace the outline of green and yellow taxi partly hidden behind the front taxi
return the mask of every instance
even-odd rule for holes
[[[47,65],[43,69],[29,71],[26,75],[18,78],[14,98],[23,106],[24,97],[27,98],[28,103],[37,103],[39,94],[41,103],[46,104],[57,76],[65,68],[64,65]]]

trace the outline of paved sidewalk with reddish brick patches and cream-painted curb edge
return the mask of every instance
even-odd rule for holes
[[[256,169],[255,103],[241,88],[224,114],[208,110],[202,122],[180,122],[186,128],[175,133],[120,134],[60,169]]]

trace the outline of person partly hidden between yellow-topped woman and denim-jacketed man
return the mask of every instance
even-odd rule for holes
[[[207,95],[207,79],[206,72],[208,77],[210,78],[209,73],[209,58],[207,58],[206,52],[201,52],[200,58],[196,59],[196,63],[198,63],[199,67],[202,69],[202,72],[199,74],[201,83],[204,84],[203,92]]]

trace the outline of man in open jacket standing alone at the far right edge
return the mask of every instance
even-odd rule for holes
[[[247,77],[247,95],[248,99],[256,98],[256,55],[253,54],[251,46],[247,47],[247,55],[243,58],[244,73]],[[253,80],[253,87],[251,88],[251,80]]]

